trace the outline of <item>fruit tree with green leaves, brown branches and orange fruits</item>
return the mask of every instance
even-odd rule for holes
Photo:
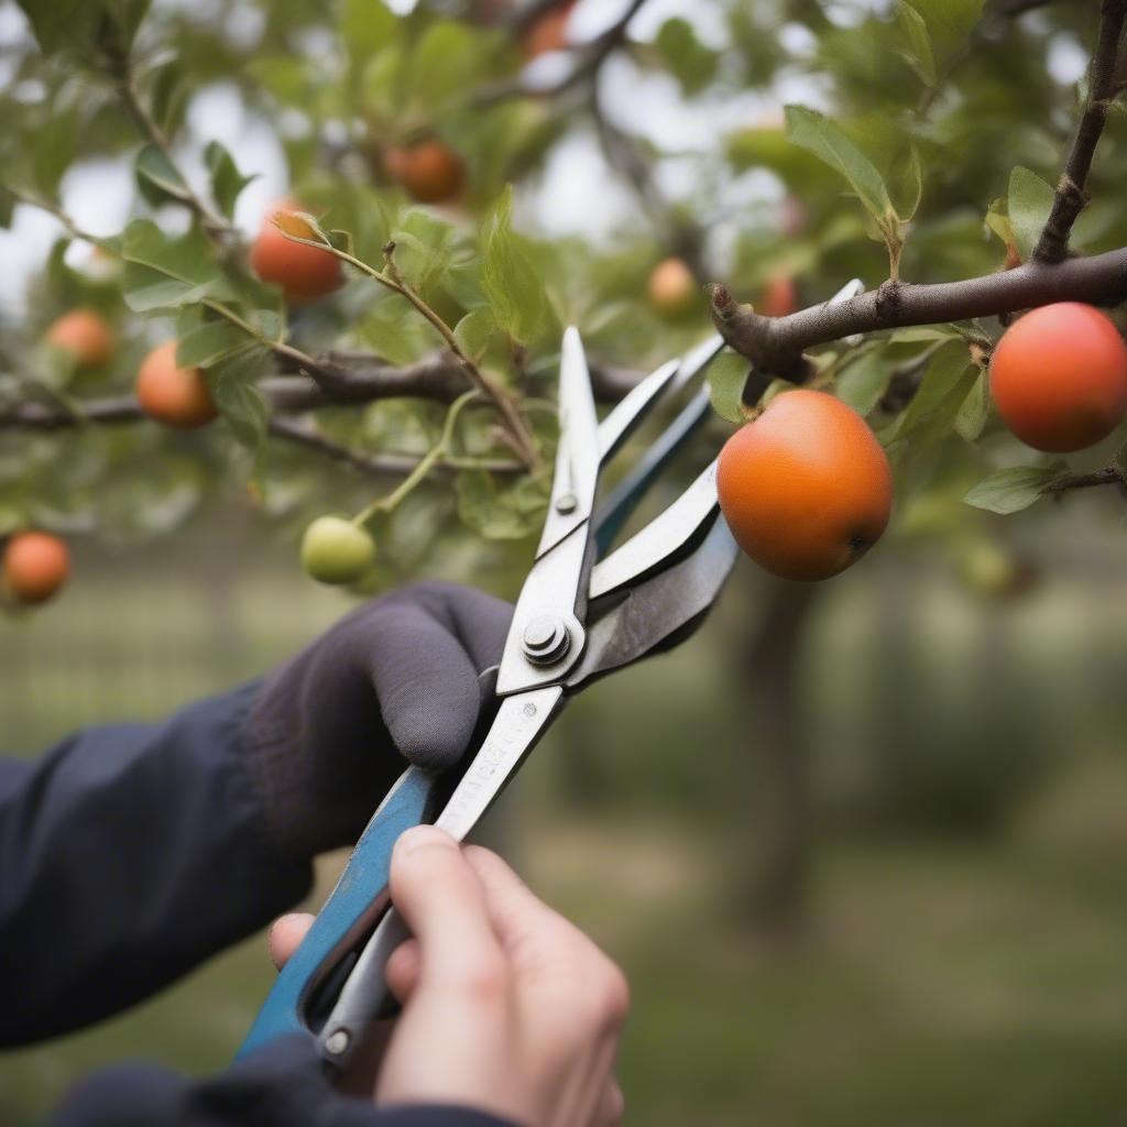
[[[719,330],[698,453],[744,428],[725,508],[790,577],[894,495],[1125,488],[1127,0],[658,7],[0,6],[0,224],[54,240],[0,334],[25,602],[216,499],[334,583],[523,541],[567,323],[605,401]]]

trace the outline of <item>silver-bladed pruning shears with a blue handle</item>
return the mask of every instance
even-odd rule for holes
[[[834,300],[852,296],[858,284],[850,283]],[[722,346],[720,337],[712,337],[683,360],[664,364],[600,423],[583,341],[578,330],[566,330],[548,516],[500,665],[482,675],[492,684],[483,731],[474,737],[477,751],[443,774],[409,767],[388,792],[278,975],[238,1058],[278,1037],[305,1033],[328,1065],[344,1068],[367,1027],[394,1010],[384,967],[408,937],[388,894],[399,835],[433,823],[462,841],[571,696],[601,676],[678,645],[703,620],[737,554],[720,516],[716,460],[649,524],[609,549],[663,467],[708,417],[707,389],[693,396],[598,507],[596,496],[603,468],[654,406],[700,375]]]

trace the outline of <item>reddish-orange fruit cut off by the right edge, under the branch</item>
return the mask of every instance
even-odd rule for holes
[[[990,389],[1005,425],[1051,453],[1106,438],[1127,411],[1127,345],[1091,305],[1042,305],[1005,330],[990,365]]]

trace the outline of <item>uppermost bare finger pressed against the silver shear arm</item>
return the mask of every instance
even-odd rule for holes
[[[461,991],[504,973],[481,881],[434,826],[408,829],[391,854],[391,899],[420,951],[419,991]]]

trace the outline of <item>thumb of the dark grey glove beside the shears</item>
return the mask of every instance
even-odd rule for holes
[[[416,766],[441,771],[461,758],[481,709],[478,673],[461,642],[414,603],[381,606],[364,627],[383,722]]]

